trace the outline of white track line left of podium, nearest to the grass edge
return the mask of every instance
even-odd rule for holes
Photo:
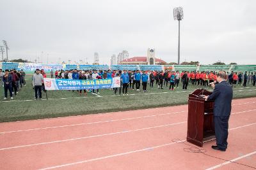
[[[172,114],[184,113],[184,112],[186,112],[186,111],[177,111],[177,112],[172,112],[172,113],[162,113],[162,114],[159,114],[159,115],[148,115],[148,116],[144,116],[144,117],[121,118],[121,119],[105,120],[105,121],[99,121],[99,122],[88,122],[88,123],[81,123],[81,124],[60,125],[60,126],[42,127],[42,128],[35,128],[35,129],[25,129],[25,130],[18,130],[18,131],[6,131],[6,132],[0,132],[0,134],[6,134],[6,133],[12,133],[12,132],[36,131],[36,130],[41,130],[41,129],[53,129],[53,128],[58,128],[58,127],[70,127],[70,126],[77,126],[77,125],[100,124],[100,123],[106,123],[106,122],[117,122],[117,121],[121,121],[121,120],[134,120],[134,119],[138,119],[138,118],[158,117],[158,116],[163,116],[163,115],[172,115]]]

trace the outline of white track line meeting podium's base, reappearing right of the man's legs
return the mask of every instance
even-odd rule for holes
[[[256,124],[256,123],[254,123],[254,124]],[[250,125],[254,125],[254,124],[250,124]],[[246,126],[248,126],[248,125],[239,126],[239,127],[234,128],[234,129],[239,129],[239,128],[243,128],[243,127],[246,127]],[[230,129],[230,131],[234,130],[234,129]],[[179,141],[179,142],[184,142],[184,141],[186,141],[186,140],[182,140],[182,141]],[[131,152],[118,153],[118,154],[115,154],[115,155],[107,155],[105,157],[98,157],[98,158],[95,158],[95,159],[87,159],[87,160],[82,160],[82,161],[79,161],[79,162],[73,162],[73,163],[70,163],[70,164],[61,164],[61,165],[58,165],[58,166],[45,167],[45,168],[42,168],[41,170],[43,170],[43,169],[45,169],[45,170],[46,169],[56,169],[56,168],[59,168],[59,167],[66,167],[66,166],[74,166],[76,164],[83,164],[83,163],[86,163],[86,162],[93,162],[93,161],[96,161],[96,160],[102,160],[102,159],[108,159],[108,158],[111,158],[111,157],[118,157],[118,156],[122,156],[122,155],[128,155],[130,153],[143,152],[143,151],[152,150],[152,149],[155,149],[155,148],[162,148],[164,146],[173,145],[175,143],[176,142],[166,143],[166,144],[163,144],[163,145],[157,145],[157,146],[152,146],[152,147],[148,147],[148,148],[142,148],[140,150],[132,150]]]

